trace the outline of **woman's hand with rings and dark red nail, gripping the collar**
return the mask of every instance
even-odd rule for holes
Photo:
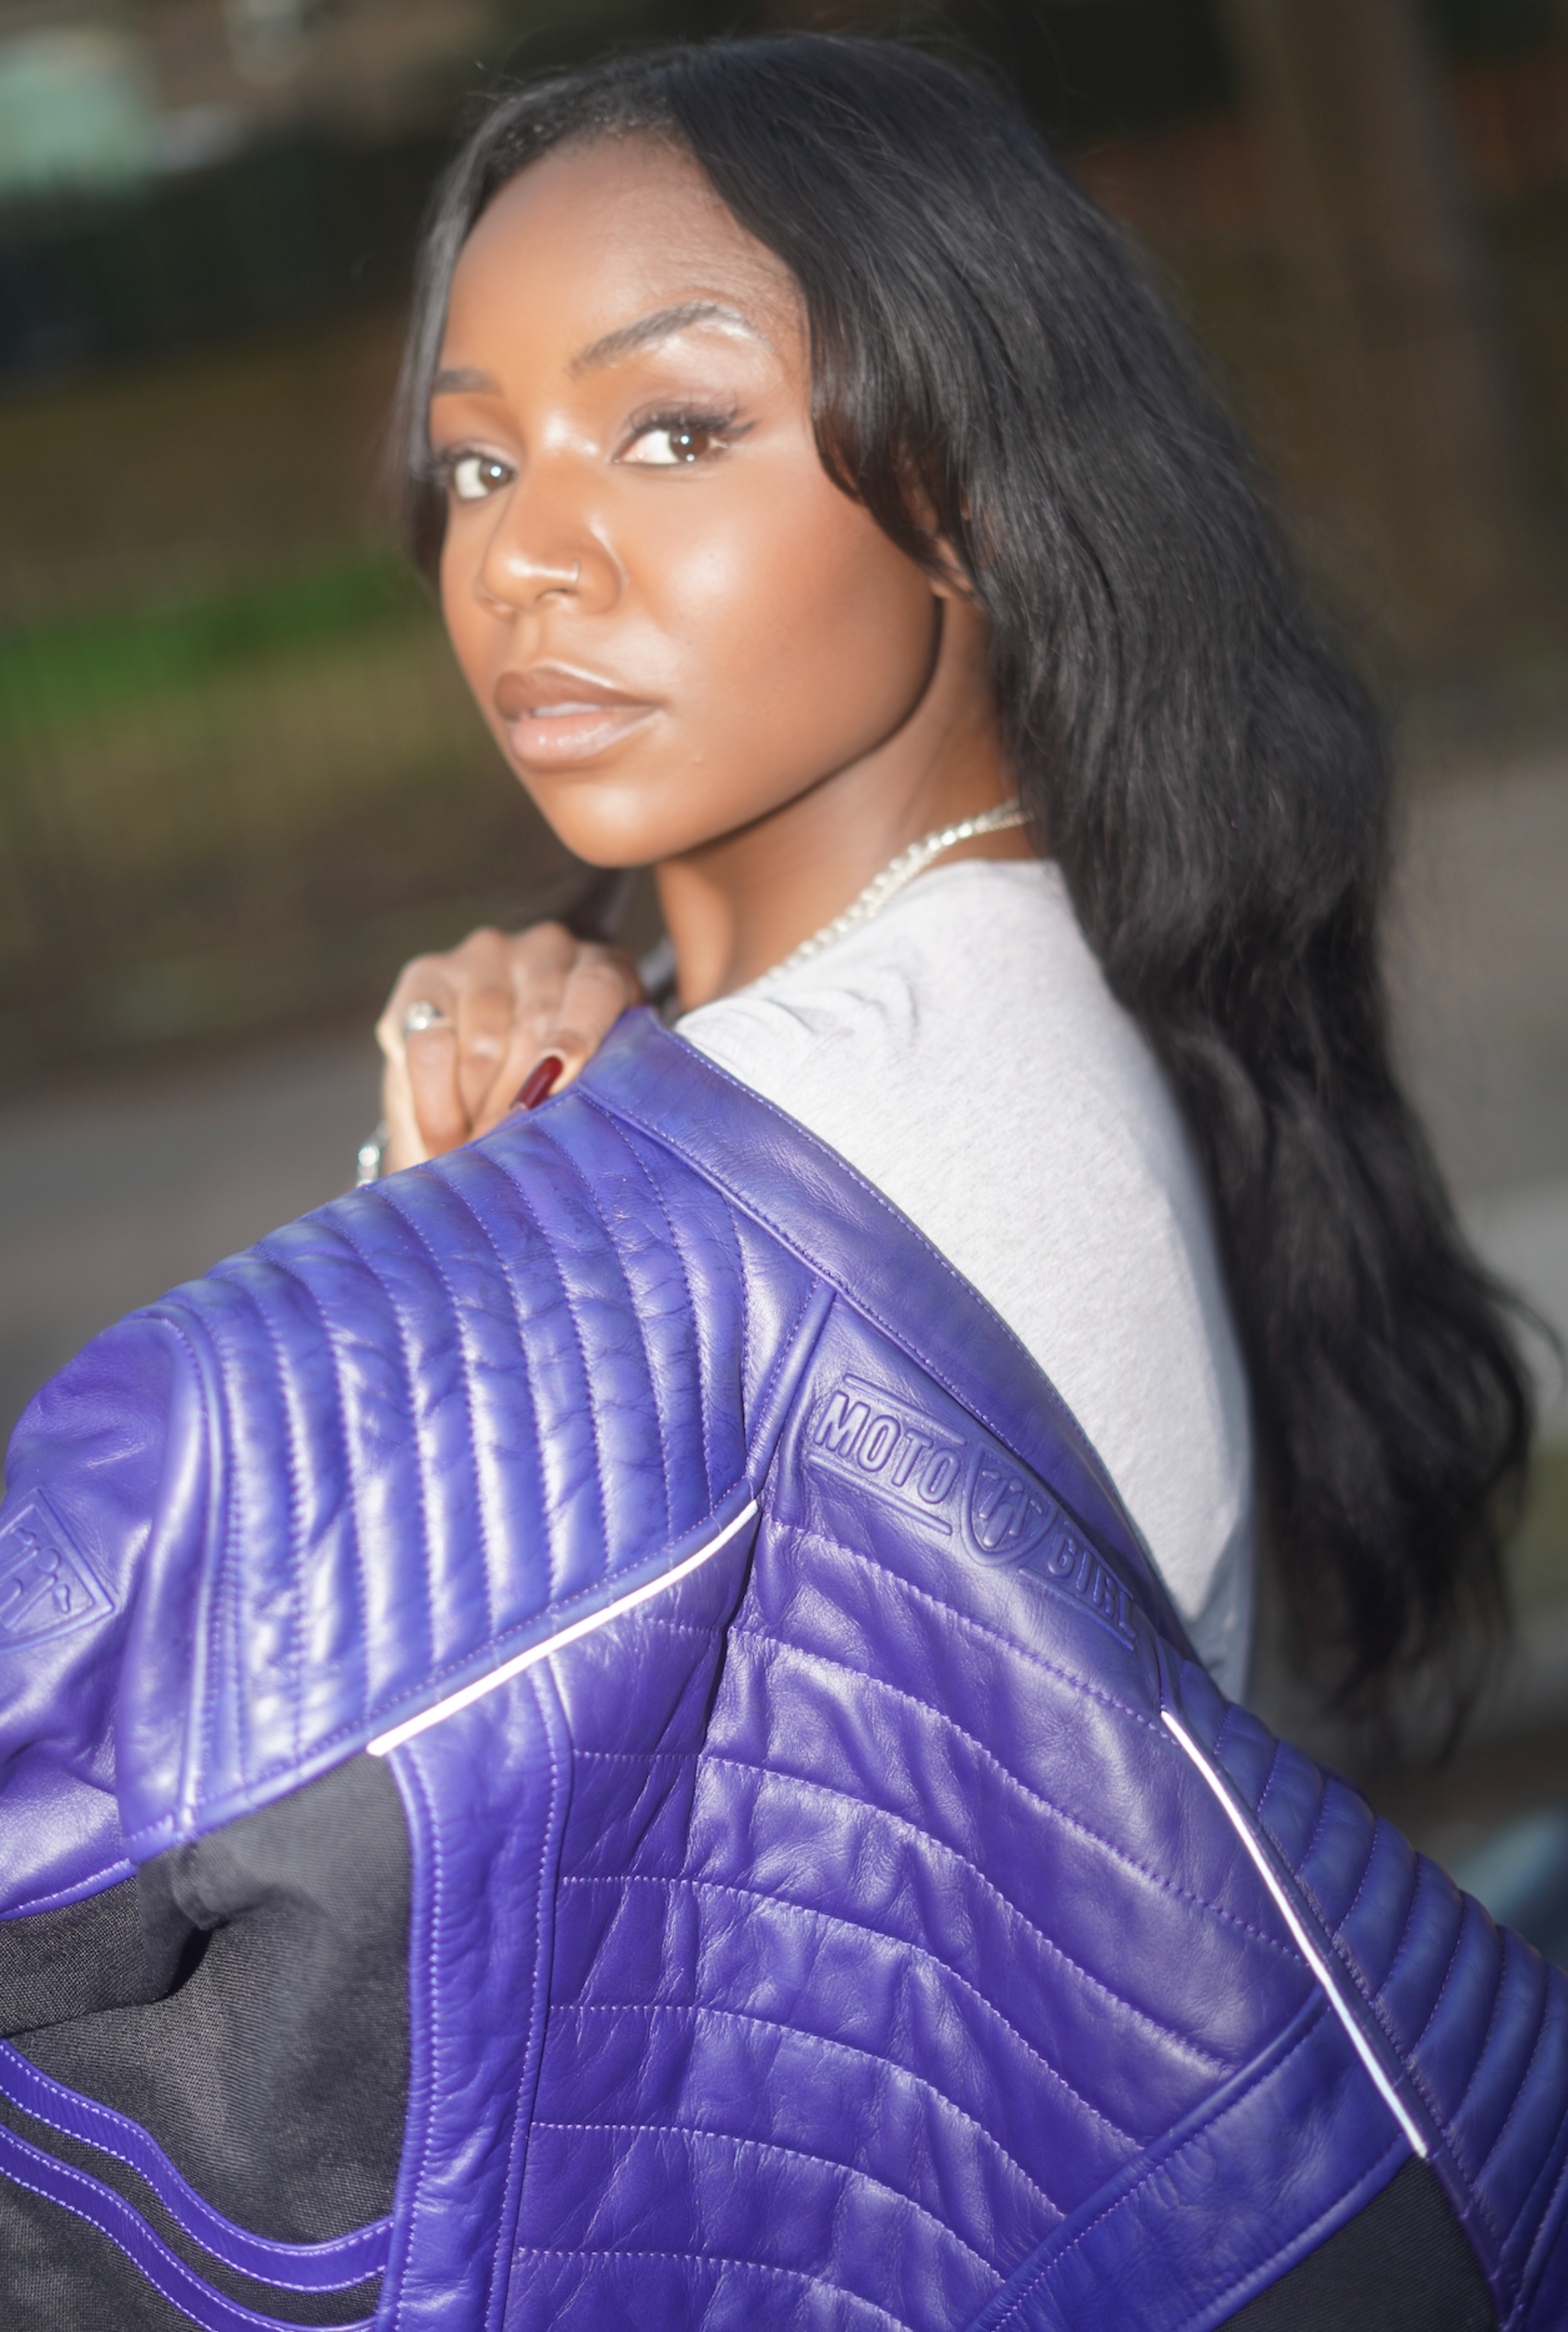
[[[488,1133],[534,1073],[558,1094],[637,1003],[632,958],[574,940],[562,923],[474,930],[446,956],[415,956],[376,1024],[387,1061],[383,1171]],[[555,1077],[544,1068],[551,1059],[560,1061]]]

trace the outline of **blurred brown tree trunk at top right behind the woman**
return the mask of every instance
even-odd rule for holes
[[[1339,490],[1416,641],[1496,648],[1533,597],[1535,546],[1416,0],[1220,0],[1220,14],[1309,292]]]

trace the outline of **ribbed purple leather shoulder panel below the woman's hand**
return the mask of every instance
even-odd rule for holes
[[[742,1255],[742,1241],[751,1252]],[[152,1313],[205,1448],[128,1665],[131,1852],[210,1828],[681,1560],[747,1490],[807,1273],[586,1096]],[[182,1712],[182,1730],[168,1716]]]

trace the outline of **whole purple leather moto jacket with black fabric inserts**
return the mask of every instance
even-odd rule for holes
[[[0,1758],[12,2332],[1568,2325],[1563,1978],[649,1014],[37,1397]]]

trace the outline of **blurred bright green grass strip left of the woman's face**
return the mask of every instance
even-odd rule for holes
[[[387,625],[434,625],[427,592],[383,550],[215,599],[0,632],[0,742],[54,737],[105,714]]]

